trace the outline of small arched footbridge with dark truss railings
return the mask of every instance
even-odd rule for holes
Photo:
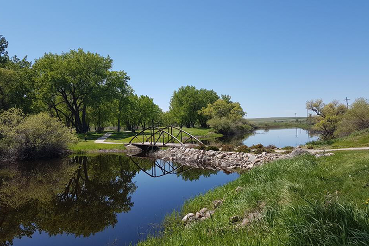
[[[196,137],[176,126],[150,126],[137,133],[129,144],[153,147],[185,147],[203,144]]]

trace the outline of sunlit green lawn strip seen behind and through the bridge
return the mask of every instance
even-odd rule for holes
[[[212,131],[211,128],[198,128],[198,127],[194,127],[194,128],[182,128],[184,131],[188,132],[189,134],[197,137],[199,140],[205,140],[205,139],[209,139],[209,138],[217,138],[217,137],[221,137],[221,134],[218,133],[214,133]],[[129,143],[129,141],[140,131],[137,131],[136,133],[131,133],[131,132],[114,132],[106,141],[109,142],[117,142],[117,143]],[[173,130],[173,135],[177,136],[178,134],[178,130]],[[146,137],[150,137],[151,133],[150,130],[145,131],[145,135]],[[159,137],[159,133],[155,134],[155,139],[157,139]],[[183,138],[185,138],[186,135],[183,134]],[[179,138],[180,139],[180,138]],[[144,140],[146,141],[146,138],[144,137]],[[168,141],[169,140],[169,136],[164,134],[164,141]],[[133,142],[139,142],[142,141],[142,135],[140,137],[140,140],[138,139],[134,139]],[[161,142],[162,142],[162,136],[161,136]]]

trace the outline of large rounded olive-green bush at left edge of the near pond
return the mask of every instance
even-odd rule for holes
[[[3,112],[0,116],[2,160],[54,157],[65,153],[69,144],[78,142],[77,137],[70,133],[68,128],[46,113],[19,120],[22,116],[21,112],[14,110]],[[10,118],[17,119],[17,123],[11,125],[4,121]]]

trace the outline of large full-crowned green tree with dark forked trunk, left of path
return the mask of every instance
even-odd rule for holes
[[[112,62],[109,56],[83,49],[61,55],[45,53],[33,65],[37,93],[59,117],[63,115],[76,132],[84,133],[88,131],[87,107],[93,106],[96,92],[106,86]]]

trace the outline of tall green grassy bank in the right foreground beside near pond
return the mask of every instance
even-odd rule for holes
[[[368,245],[368,177],[368,151],[268,163],[187,201],[166,218],[161,237],[139,246]],[[217,199],[223,205],[210,219],[184,227],[183,215],[213,209]],[[256,211],[261,219],[246,226],[230,222]]]

